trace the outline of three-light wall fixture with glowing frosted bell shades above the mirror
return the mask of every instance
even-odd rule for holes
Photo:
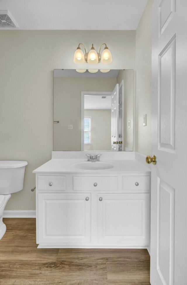
[[[73,61],[75,63],[87,62],[87,63],[91,63],[91,64],[96,64],[99,62],[102,62],[102,63],[111,63],[112,62],[112,54],[111,54],[110,50],[108,49],[108,47],[106,46],[106,44],[102,44],[100,46],[99,53],[96,52],[96,50],[93,47],[93,44],[92,44],[92,47],[91,47],[91,50],[89,51],[89,53],[86,52],[86,48],[85,48],[84,44],[81,44],[84,47],[85,54],[83,53],[82,49],[80,48],[80,44],[74,53]],[[102,55],[101,55],[101,47],[103,45],[105,45],[105,48],[104,48]]]

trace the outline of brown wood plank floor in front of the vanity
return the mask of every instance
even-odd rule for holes
[[[150,285],[146,249],[37,249],[35,219],[4,223],[1,285]]]

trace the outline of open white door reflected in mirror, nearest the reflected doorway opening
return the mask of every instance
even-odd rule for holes
[[[118,151],[119,140],[119,84],[116,84],[111,95],[111,151]]]

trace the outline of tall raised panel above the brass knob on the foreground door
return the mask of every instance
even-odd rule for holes
[[[158,149],[175,152],[176,34],[158,55]]]

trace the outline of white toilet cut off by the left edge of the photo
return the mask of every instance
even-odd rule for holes
[[[0,239],[6,232],[3,212],[11,193],[23,189],[25,166],[27,161],[0,160]]]

